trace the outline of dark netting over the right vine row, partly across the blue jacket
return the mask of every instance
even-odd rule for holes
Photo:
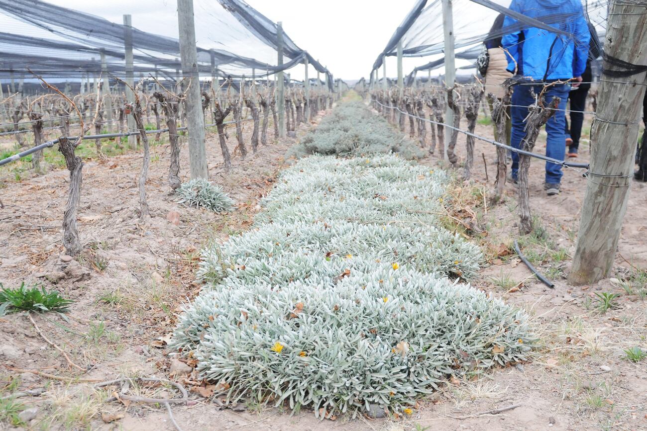
[[[442,0],[419,0],[375,59],[373,71],[382,67],[385,57],[397,56],[399,43],[403,57],[428,60],[421,61],[421,65],[415,67],[411,75],[421,70],[442,68],[445,49],[442,3]],[[454,0],[452,3],[456,65],[459,69],[469,70],[469,74],[476,73],[474,63],[486,39],[534,27],[542,32],[552,33],[563,41],[575,40],[577,43],[579,29],[575,28],[575,18],[582,12],[589,23],[591,34],[595,35],[595,49],[601,52],[599,37],[604,36],[606,32],[606,1],[583,0],[582,10],[571,10],[566,6],[556,8],[553,3],[542,0]],[[499,14],[506,17],[505,22],[503,26],[493,28]],[[560,54],[560,49],[557,48],[553,57],[558,58]]]

